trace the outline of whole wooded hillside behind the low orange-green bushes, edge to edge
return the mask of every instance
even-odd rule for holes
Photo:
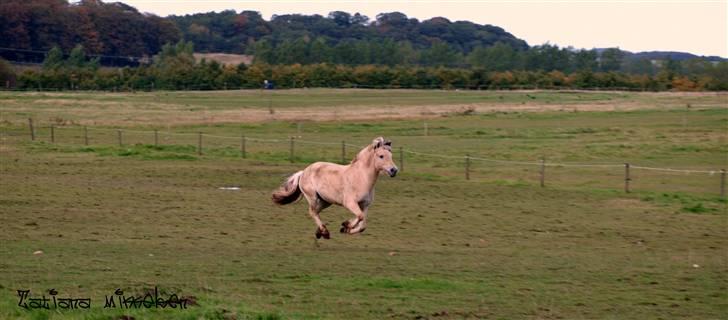
[[[191,42],[202,53],[236,53],[273,65],[317,64],[466,67],[486,71],[622,71],[654,75],[661,68],[704,73],[720,57],[680,52],[632,54],[617,48],[530,46],[502,28],[400,12],[370,18],[334,11],[264,19],[226,10],[158,17],[122,2],[0,0],[0,58],[41,63],[53,47],[68,57],[76,46],[105,66],[148,64],[167,43]],[[663,60],[663,61],[653,61]]]

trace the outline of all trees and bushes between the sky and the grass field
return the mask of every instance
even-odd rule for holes
[[[250,54],[254,64],[195,61],[192,47]],[[3,83],[23,89],[252,88],[268,79],[283,88],[725,90],[725,59],[662,54],[528,46],[496,26],[419,21],[400,12],[265,20],[258,12],[227,10],[162,18],[101,0],[0,2],[0,57],[43,63],[20,74],[0,64]],[[320,79],[323,74],[333,78]]]

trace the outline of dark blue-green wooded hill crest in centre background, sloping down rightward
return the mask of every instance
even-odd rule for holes
[[[352,60],[373,60],[362,63],[377,63],[381,61],[357,57],[356,53],[372,54],[374,47],[385,55],[393,51],[406,54],[441,45],[454,54],[467,54],[477,47],[488,47],[497,42],[516,50],[528,48],[525,41],[496,26],[452,22],[442,17],[419,21],[400,12],[382,13],[373,20],[359,13],[342,11],[331,12],[326,17],[276,15],[270,21],[264,20],[258,12],[236,13],[233,10],[170,18],[184,38],[202,52],[266,54],[268,48],[294,51],[282,54],[286,56],[295,55],[295,49],[314,46],[312,49],[319,51],[316,55],[341,55],[341,58]]]

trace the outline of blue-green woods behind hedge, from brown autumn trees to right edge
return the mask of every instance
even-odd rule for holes
[[[401,12],[382,13],[374,20],[334,11],[328,16],[274,15],[266,21],[258,12],[226,10],[170,19],[200,52],[248,54],[257,62],[275,65],[374,64],[655,75],[659,71],[656,64],[670,60],[671,54],[632,54],[618,48],[577,50],[548,43],[529,46],[496,26],[443,17],[419,21]],[[692,60],[687,72],[723,60],[672,55],[674,60]]]

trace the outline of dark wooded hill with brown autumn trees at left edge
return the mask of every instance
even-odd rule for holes
[[[70,52],[80,44],[87,54],[104,55],[102,64],[127,64],[125,57],[155,55],[179,40],[171,20],[121,2],[0,1],[0,54],[12,61],[40,62],[54,46]]]

